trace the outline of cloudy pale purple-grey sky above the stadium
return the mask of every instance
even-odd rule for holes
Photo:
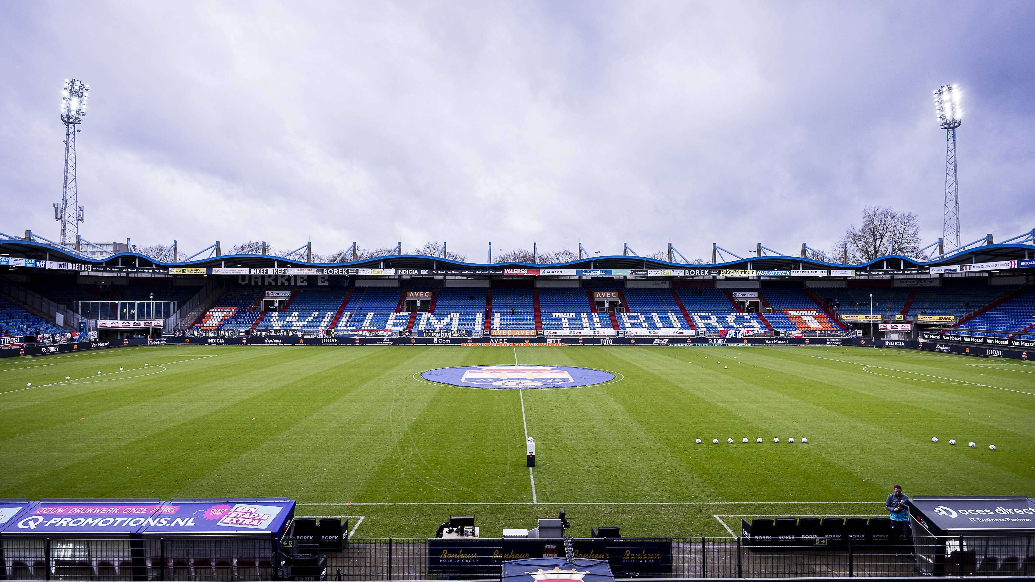
[[[1032,2],[2,2],[0,232],[57,237],[60,89],[90,84],[81,234],[317,252],[427,240],[827,248],[869,204],[1035,226]]]

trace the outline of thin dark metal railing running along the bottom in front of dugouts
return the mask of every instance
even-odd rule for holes
[[[1033,537],[908,538],[758,547],[749,539],[572,539],[616,578],[1035,576]],[[824,541],[827,542],[827,541]],[[4,539],[13,580],[498,579],[504,560],[565,557],[537,539]]]

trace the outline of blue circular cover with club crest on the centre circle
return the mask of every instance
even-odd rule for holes
[[[615,374],[571,366],[456,366],[421,372],[420,377],[438,384],[468,388],[574,388],[614,379]]]

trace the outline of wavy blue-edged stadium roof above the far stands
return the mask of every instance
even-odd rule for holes
[[[990,237],[989,237],[990,238]],[[583,269],[583,270],[627,270],[627,269],[749,269],[749,270],[855,270],[909,272],[917,269],[926,270],[930,267],[947,267],[955,265],[986,264],[1008,261],[1024,261],[1035,258],[1035,229],[1021,237],[1014,237],[1023,242],[1005,244],[977,244],[965,246],[955,252],[945,253],[931,261],[888,254],[866,263],[841,264],[818,261],[806,256],[765,255],[737,258],[724,263],[688,264],[673,263],[639,255],[605,255],[570,261],[556,264],[534,263],[465,263],[448,258],[417,255],[390,254],[365,258],[355,262],[339,263],[308,263],[296,258],[286,258],[267,254],[220,254],[181,262],[158,262],[138,252],[119,252],[105,257],[95,258],[75,249],[17,237],[0,238],[0,256],[9,255],[24,258],[43,259],[50,262],[65,262],[93,267],[122,267],[142,270],[164,268],[252,268],[252,269],[284,269],[284,268],[360,268],[360,269]],[[982,239],[983,240],[983,239]],[[975,241],[975,243],[980,241]],[[972,244],[975,244],[972,243]],[[1007,270],[1010,267],[1004,267]],[[508,273],[519,275],[520,273]],[[893,273],[892,273],[893,274]]]

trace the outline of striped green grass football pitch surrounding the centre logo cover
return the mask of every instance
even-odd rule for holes
[[[621,379],[516,391],[413,377],[515,361]],[[523,421],[538,445],[536,504]],[[299,515],[362,516],[356,538],[426,538],[468,512],[499,535],[560,507],[578,535],[728,535],[714,516],[882,515],[894,483],[1035,494],[1035,366],[719,346],[165,346],[0,361],[0,497],[290,496]],[[721,519],[739,531],[739,517]]]

